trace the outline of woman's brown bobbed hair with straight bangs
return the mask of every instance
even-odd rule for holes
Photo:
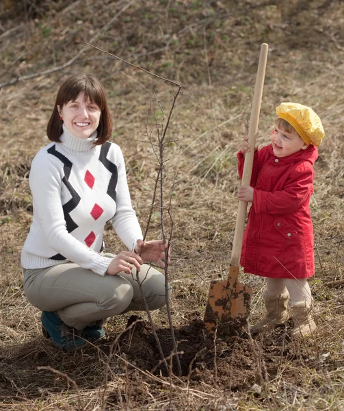
[[[107,106],[104,87],[94,75],[85,73],[68,77],[60,86],[57,92],[55,106],[47,126],[49,140],[60,142],[59,137],[63,133],[63,123],[59,118],[57,105],[62,108],[66,103],[69,103],[69,101],[75,101],[81,92],[84,92],[85,99],[90,99],[92,103],[98,105],[101,109],[101,120],[96,129],[97,138],[94,140],[94,145],[102,145],[105,141],[109,140],[114,125]]]

